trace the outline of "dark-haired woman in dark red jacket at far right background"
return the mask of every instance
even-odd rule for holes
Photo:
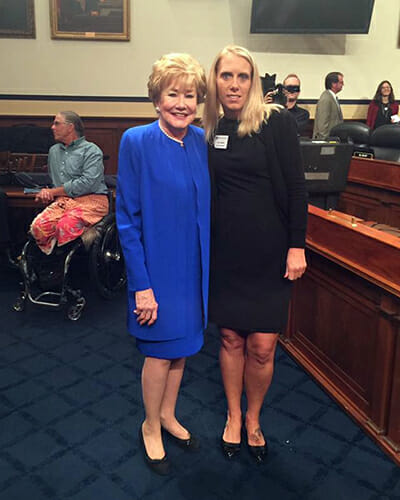
[[[399,105],[394,100],[392,84],[383,80],[376,89],[367,113],[367,125],[375,130],[381,125],[392,123],[392,115],[397,115]]]

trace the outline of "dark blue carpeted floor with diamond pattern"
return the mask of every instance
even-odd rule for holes
[[[218,335],[188,360],[178,403],[202,443],[170,442],[169,477],[138,450],[142,358],[125,330],[125,298],[88,291],[82,318],[11,309],[18,275],[0,269],[0,498],[2,500],[400,499],[400,468],[282,350],[262,415],[268,462],[219,450],[225,402]],[[87,280],[83,276],[83,281]]]

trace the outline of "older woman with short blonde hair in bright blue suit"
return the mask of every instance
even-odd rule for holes
[[[204,70],[188,54],[168,54],[154,63],[148,90],[159,119],[122,137],[117,223],[128,329],[145,355],[139,439],[150,468],[168,474],[162,429],[188,450],[199,446],[175,406],[185,358],[202,347],[207,324],[207,147],[203,131],[191,125],[206,91]]]

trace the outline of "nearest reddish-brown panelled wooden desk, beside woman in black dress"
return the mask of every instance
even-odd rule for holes
[[[282,346],[400,465],[400,239],[309,207]]]

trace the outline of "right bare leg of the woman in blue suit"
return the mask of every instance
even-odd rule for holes
[[[179,388],[183,377],[186,358],[174,359],[168,372],[164,397],[161,403],[161,424],[171,434],[179,439],[189,439],[190,433],[176,419],[175,408]]]

